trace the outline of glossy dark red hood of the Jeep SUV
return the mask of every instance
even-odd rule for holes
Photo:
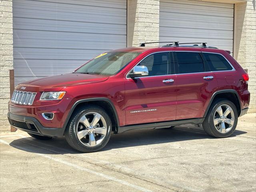
[[[27,81],[19,84],[15,89],[35,92],[60,91],[62,88],[67,86],[97,83],[106,81],[107,79],[108,76],[69,73]]]

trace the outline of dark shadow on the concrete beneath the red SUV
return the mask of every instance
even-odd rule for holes
[[[192,128],[191,128],[192,127]],[[247,132],[236,130],[230,137],[235,137]],[[108,144],[100,151],[116,148],[144,146],[151,144],[172,143],[186,140],[218,139],[208,136],[204,130],[196,126],[177,126],[175,128],[144,129],[112,134]],[[10,146],[33,153],[42,154],[80,154],[71,148],[65,138],[52,140],[36,140],[32,137],[13,140]]]

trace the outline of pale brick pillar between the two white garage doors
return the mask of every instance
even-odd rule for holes
[[[128,0],[127,12],[128,46],[159,40],[159,0]]]

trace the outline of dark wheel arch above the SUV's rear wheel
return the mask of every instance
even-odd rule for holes
[[[230,94],[227,94],[230,93]],[[208,106],[206,108],[206,111],[204,113],[204,118],[206,117],[208,110],[210,108],[210,106],[212,105],[212,102],[217,99],[217,98],[226,98],[228,100],[230,100],[231,102],[234,103],[234,105],[237,108],[237,112],[238,112],[238,117],[240,116],[241,113],[241,104],[240,104],[240,98],[238,93],[236,92],[236,90],[233,89],[228,89],[228,90],[220,90],[220,91],[216,91],[214,92],[214,94],[212,95],[210,102],[208,103]]]

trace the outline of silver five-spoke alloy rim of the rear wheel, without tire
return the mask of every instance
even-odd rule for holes
[[[223,104],[219,106],[214,114],[214,126],[220,133],[227,133],[229,132],[233,125],[234,125],[234,111],[232,108],[227,105]]]

